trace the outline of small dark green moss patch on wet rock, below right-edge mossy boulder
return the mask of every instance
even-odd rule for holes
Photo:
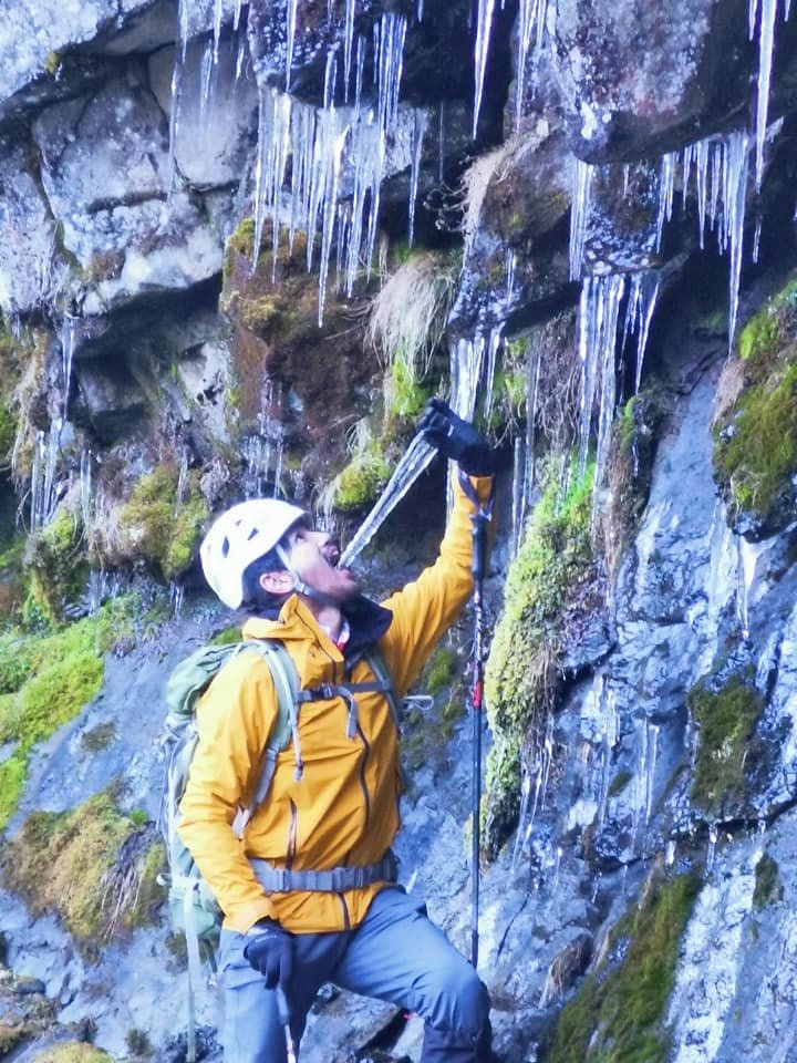
[[[686,695],[686,704],[698,727],[692,801],[717,818],[744,797],[745,766],[762,711],[760,696],[735,675],[718,691],[698,683]]]

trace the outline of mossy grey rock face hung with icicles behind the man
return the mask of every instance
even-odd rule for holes
[[[0,823],[35,867],[64,816],[108,817],[62,904],[2,871],[10,1059],[185,1059],[137,846],[164,678],[235,619],[199,537],[269,494],[349,533],[445,393],[500,465],[478,927],[499,1057],[794,1063],[797,16],[496,7],[4,4]],[[443,497],[439,473],[412,487],[369,591],[435,556]],[[406,710],[396,845],[464,952],[472,620]],[[204,1059],[218,1019],[199,987]],[[422,1038],[328,987],[301,1057]]]

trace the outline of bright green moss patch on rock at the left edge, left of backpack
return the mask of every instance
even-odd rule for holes
[[[0,828],[17,807],[30,751],[96,695],[103,654],[127,630],[133,608],[133,599],[117,599],[76,623],[0,634],[0,742],[15,743],[0,764]]]

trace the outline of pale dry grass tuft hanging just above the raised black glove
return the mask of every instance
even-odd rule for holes
[[[413,379],[428,372],[455,288],[455,265],[435,251],[413,255],[393,274],[371,303],[365,333],[383,364],[401,359]]]

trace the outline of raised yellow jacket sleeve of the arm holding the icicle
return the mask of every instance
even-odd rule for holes
[[[469,477],[480,505],[493,489],[489,476]],[[473,591],[470,572],[474,504],[454,477],[454,507],[448,517],[439,555],[434,565],[383,602],[393,622],[380,642],[391,669],[396,692],[402,696],[412,687],[435,646],[454,623]],[[493,539],[493,522],[488,540]]]

